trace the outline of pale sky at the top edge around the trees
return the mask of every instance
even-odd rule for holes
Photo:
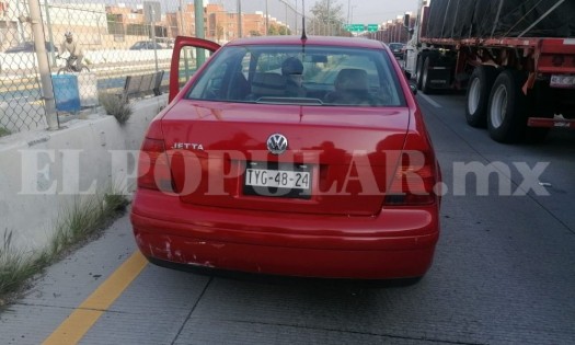
[[[296,0],[284,0],[296,5]],[[298,9],[301,9],[302,0],[297,0]],[[315,3],[314,0],[304,0],[306,9],[309,10]],[[209,0],[210,3],[222,3],[227,10],[237,11],[238,0]],[[278,19],[285,16],[285,5],[280,0],[267,0],[271,15]],[[388,20],[394,20],[405,12],[417,10],[418,0],[331,0],[331,3],[340,3],[343,7],[343,16],[347,20],[353,14],[353,24],[381,24]],[[242,12],[265,12],[265,0],[242,0]]]

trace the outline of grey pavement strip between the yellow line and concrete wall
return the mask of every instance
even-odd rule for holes
[[[101,238],[50,266],[23,299],[0,312],[0,344],[41,344],[136,250],[126,212]]]

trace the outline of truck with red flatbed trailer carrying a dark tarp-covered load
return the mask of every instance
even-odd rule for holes
[[[575,128],[574,18],[575,0],[422,0],[405,72],[425,94],[464,90],[494,140],[541,141]]]

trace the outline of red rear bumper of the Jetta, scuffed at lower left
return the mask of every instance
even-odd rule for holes
[[[334,217],[198,207],[138,191],[131,223],[153,262],[287,276],[419,277],[438,240],[436,207]]]

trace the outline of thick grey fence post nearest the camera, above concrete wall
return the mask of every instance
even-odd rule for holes
[[[48,55],[46,54],[46,44],[44,43],[44,24],[42,23],[42,10],[37,0],[28,1],[30,24],[34,35],[34,47],[38,59],[38,71],[42,83],[44,106],[46,110],[46,123],[48,130],[57,130],[59,127],[58,115],[56,114],[56,101],[54,99],[54,89],[51,87],[50,67]]]

